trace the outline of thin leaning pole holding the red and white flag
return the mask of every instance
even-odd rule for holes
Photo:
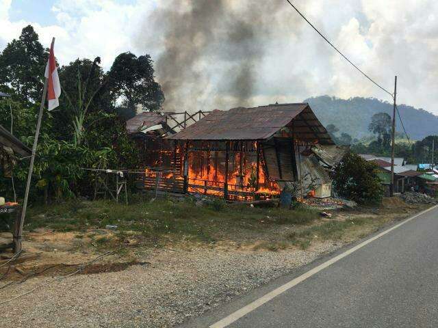
[[[53,47],[54,43],[55,43],[55,38],[52,39],[51,47]],[[47,83],[48,83],[48,79],[45,79],[45,81],[44,81],[44,88],[42,90],[40,113],[38,113],[38,122],[36,123],[34,146],[32,146],[32,156],[31,156],[31,159],[30,159],[29,173],[27,174],[25,198],[23,200],[23,209],[21,210],[20,223],[17,226],[17,229],[14,231],[14,241],[13,241],[13,243],[14,243],[14,253],[15,254],[17,254],[18,252],[21,251],[21,234],[23,233],[23,225],[25,223],[25,216],[26,216],[26,209],[27,209],[27,200],[29,199],[30,183],[31,183],[31,180],[32,180],[32,172],[34,171],[34,161],[35,161],[35,155],[36,155],[36,147],[38,146],[38,137],[40,136],[42,113],[44,112],[44,105],[45,105],[45,102],[46,102]]]

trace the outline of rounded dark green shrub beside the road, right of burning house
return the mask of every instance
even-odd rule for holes
[[[381,203],[384,189],[375,163],[349,152],[335,168],[334,187],[342,197],[361,204]]]

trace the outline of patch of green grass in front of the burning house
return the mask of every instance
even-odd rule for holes
[[[319,217],[318,211],[305,208],[250,208],[245,204],[230,205],[220,199],[212,199],[204,206],[195,203],[191,198],[154,202],[142,202],[139,198],[128,206],[103,200],[35,206],[29,210],[25,229],[85,230],[83,236],[77,234],[75,238],[90,238],[94,247],[126,249],[140,244],[160,247],[178,241],[211,245],[230,236],[240,238],[247,232],[263,234],[270,226],[308,224]],[[108,231],[107,225],[117,228]],[[111,232],[110,240],[99,238],[106,232]],[[137,243],[129,243],[131,234],[136,235]],[[276,251],[289,245],[289,241],[284,241],[264,248]]]

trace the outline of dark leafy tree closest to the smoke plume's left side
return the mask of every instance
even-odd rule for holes
[[[110,90],[122,107],[135,115],[138,106],[145,111],[158,111],[164,101],[161,86],[155,82],[153,61],[150,55],[136,57],[133,53],[120,53],[109,72]]]

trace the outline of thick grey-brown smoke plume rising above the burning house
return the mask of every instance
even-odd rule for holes
[[[282,16],[280,10],[285,9],[282,0],[160,4],[143,29],[153,31],[153,46],[160,49],[155,71],[166,96],[164,109],[261,105],[252,104],[251,98],[274,38],[273,27],[294,20],[289,12]]]

